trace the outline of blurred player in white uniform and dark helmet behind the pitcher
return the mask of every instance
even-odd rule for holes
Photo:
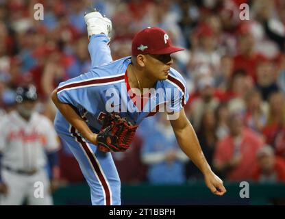
[[[51,168],[57,165],[57,135],[51,121],[34,111],[34,86],[17,88],[16,102],[0,123],[0,203],[21,205],[27,198],[29,205],[52,205],[46,167],[47,158]]]

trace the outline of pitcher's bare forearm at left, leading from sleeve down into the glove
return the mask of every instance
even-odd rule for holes
[[[53,103],[55,106],[60,110],[61,114],[66,118],[66,120],[73,126],[79,133],[90,142],[96,141],[96,134],[92,133],[86,122],[84,121],[81,116],[79,116],[79,113],[75,109],[75,107],[67,104],[62,103],[58,99],[57,89],[53,90],[51,94],[51,99],[53,100]]]

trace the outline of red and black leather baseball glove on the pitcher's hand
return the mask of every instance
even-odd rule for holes
[[[99,150],[108,152],[129,149],[137,127],[119,114],[108,114],[97,136]]]

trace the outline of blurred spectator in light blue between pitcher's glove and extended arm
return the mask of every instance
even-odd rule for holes
[[[151,138],[143,144],[142,160],[147,164],[147,178],[151,184],[182,184],[186,181],[186,155],[179,149],[166,113],[158,114]]]

